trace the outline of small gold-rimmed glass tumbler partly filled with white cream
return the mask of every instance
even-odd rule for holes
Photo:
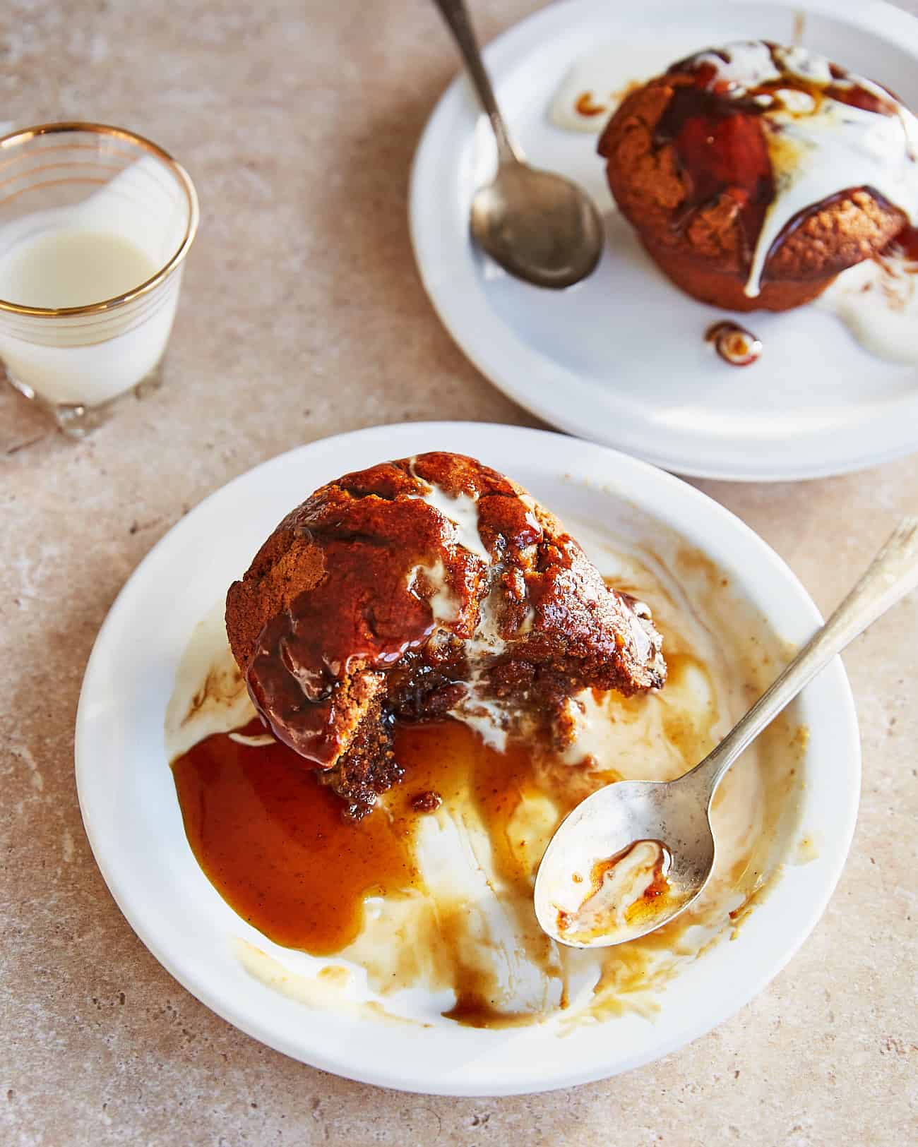
[[[185,169],[133,132],[0,139],[0,360],[68,434],[158,384],[197,218]]]

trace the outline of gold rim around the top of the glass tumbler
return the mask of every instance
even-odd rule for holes
[[[197,232],[197,193],[194,189],[194,184],[188,172],[177,163],[172,156],[163,150],[158,143],[154,143],[153,140],[146,139],[143,135],[138,135],[135,132],[129,132],[124,127],[112,127],[110,124],[93,124],[84,123],[80,120],[68,120],[60,124],[38,124],[34,127],[23,127],[21,131],[10,132],[9,135],[0,136],[0,156],[2,153],[9,148],[15,147],[17,143],[25,143],[38,135],[53,135],[56,132],[88,132],[96,135],[111,135],[115,139],[127,140],[131,143],[137,145],[145,151],[149,151],[150,155],[156,156],[157,159],[162,161],[166,167],[176,175],[182,190],[185,192],[185,197],[188,201],[188,224],[185,228],[185,235],[178,245],[174,255],[165,263],[155,275],[140,283],[139,287],[134,287],[123,295],[116,295],[114,298],[103,299],[101,303],[85,303],[83,306],[60,306],[60,307],[47,307],[47,306],[23,306],[21,303],[8,303],[6,299],[0,298],[0,311],[6,311],[9,314],[30,314],[37,318],[70,318],[75,315],[86,315],[86,314],[101,314],[104,311],[112,311],[117,306],[124,306],[125,303],[131,303],[141,295],[146,295],[157,287],[174,268],[181,263],[185,256],[188,253],[188,248],[192,245],[195,233]]]

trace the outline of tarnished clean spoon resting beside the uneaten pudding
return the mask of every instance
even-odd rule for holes
[[[435,0],[497,140],[497,175],[472,201],[472,234],[505,271],[537,287],[571,287],[602,253],[602,220],[569,179],[530,167],[511,139],[482,63],[464,0]]]

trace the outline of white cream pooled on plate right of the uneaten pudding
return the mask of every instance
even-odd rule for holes
[[[895,248],[842,272],[816,306],[841,319],[871,354],[918,362],[918,263]]]

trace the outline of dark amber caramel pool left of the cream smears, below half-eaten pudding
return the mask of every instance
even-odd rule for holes
[[[255,720],[240,733],[264,733]],[[217,733],[172,765],[188,843],[244,920],[285,947],[336,952],[360,929],[364,897],[418,872],[382,818],[347,825],[341,801],[283,744]]]

